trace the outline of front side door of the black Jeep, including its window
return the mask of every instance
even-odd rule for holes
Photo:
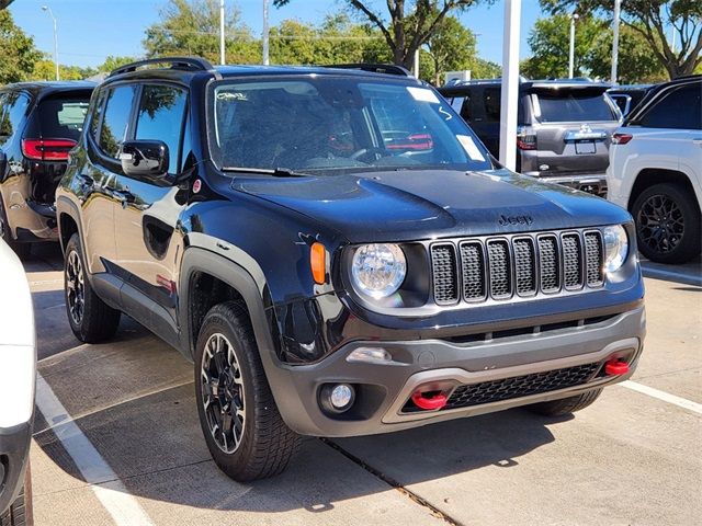
[[[140,179],[117,174],[115,207],[116,265],[127,285],[122,289],[126,310],[135,309],[155,332],[162,334],[163,318],[176,321],[178,259],[182,240],[176,232],[184,206],[173,184],[180,171],[182,137],[188,135],[188,91],[168,83],[141,84],[134,117],[134,140],[161,140],[169,151],[168,175]]]

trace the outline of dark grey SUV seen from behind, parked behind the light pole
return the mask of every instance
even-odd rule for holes
[[[500,148],[501,80],[439,89],[495,158]],[[610,84],[587,80],[521,80],[517,171],[599,196],[607,195],[610,137],[621,124],[604,93]]]

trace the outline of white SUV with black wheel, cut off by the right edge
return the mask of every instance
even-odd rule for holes
[[[642,254],[659,263],[700,255],[702,76],[658,85],[616,130],[610,199],[636,222]]]

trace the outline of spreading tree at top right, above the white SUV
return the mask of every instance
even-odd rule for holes
[[[612,0],[540,0],[552,13],[603,13],[611,21]],[[702,1],[624,0],[622,24],[641,35],[671,79],[691,75],[702,64]],[[673,28],[677,49],[668,42]]]

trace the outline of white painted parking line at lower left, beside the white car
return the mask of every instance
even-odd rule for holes
[[[44,377],[36,375],[36,405],[117,526],[152,526],[117,474],[73,422]]]

